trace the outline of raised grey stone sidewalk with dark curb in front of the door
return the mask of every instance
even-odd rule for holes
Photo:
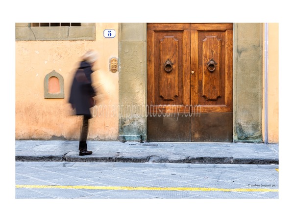
[[[87,141],[92,155],[79,156],[78,141],[16,140],[16,161],[187,164],[279,164],[278,144]]]

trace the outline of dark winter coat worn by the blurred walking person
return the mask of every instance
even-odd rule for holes
[[[91,116],[91,99],[95,96],[91,80],[93,71],[91,65],[86,61],[81,61],[78,69],[83,69],[83,71],[77,70],[75,73],[69,103],[75,109],[76,115]]]

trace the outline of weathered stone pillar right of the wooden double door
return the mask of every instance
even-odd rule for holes
[[[235,23],[233,139],[262,142],[263,24]]]

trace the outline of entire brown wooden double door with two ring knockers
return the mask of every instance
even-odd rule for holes
[[[233,24],[147,24],[147,141],[231,142]]]

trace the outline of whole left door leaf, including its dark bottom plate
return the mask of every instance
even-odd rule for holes
[[[190,44],[190,24],[147,26],[148,141],[191,141]]]

